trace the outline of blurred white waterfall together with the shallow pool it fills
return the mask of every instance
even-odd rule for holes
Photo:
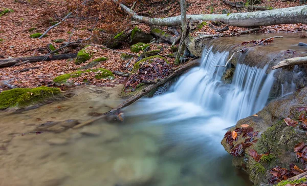
[[[239,64],[232,83],[224,84],[226,68],[215,66],[224,65],[228,55],[204,50],[200,67],[182,75],[166,93],[125,108],[121,125],[98,121],[80,130],[4,139],[0,185],[252,185],[231,166],[220,141],[226,128],[265,106],[274,78],[266,69]],[[85,117],[85,108],[101,104],[98,99],[85,102],[73,102],[74,110],[51,104],[39,113]],[[56,106],[67,111],[51,112]],[[34,122],[37,114],[2,118],[5,125],[17,125],[14,119]]]

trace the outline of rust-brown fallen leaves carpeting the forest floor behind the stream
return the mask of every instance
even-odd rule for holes
[[[172,1],[168,6],[165,6],[164,1],[146,1],[143,3],[137,3],[134,9],[139,15],[151,16],[151,17],[167,17],[180,15],[179,1]],[[260,5],[272,8],[286,8],[299,6],[298,1],[292,2],[277,2],[277,1],[262,1]],[[224,4],[218,0],[188,0],[188,14],[221,14],[223,11],[228,13],[234,13],[238,11],[247,11],[247,9],[238,9]],[[131,7],[131,4],[128,5]],[[101,45],[105,42],[105,38],[115,36],[117,32],[105,32],[109,25],[105,23],[102,17],[96,23],[96,19],[78,19],[68,18],[65,22],[61,23],[57,27],[48,32],[47,37],[42,39],[30,38],[30,34],[43,33],[52,24],[58,22],[69,11],[68,5],[62,0],[45,0],[35,3],[35,1],[1,1],[0,9],[11,9],[13,11],[8,12],[0,16],[0,59],[7,59],[13,57],[24,56],[36,56],[46,55],[49,53],[47,49],[48,44],[52,44],[55,48],[61,47],[63,44],[55,43],[55,39],[64,39],[65,42],[86,40],[86,43]],[[135,26],[130,24],[130,19],[122,13],[121,19],[122,26],[130,27]],[[124,25],[127,23],[127,25]],[[96,24],[96,25],[95,25]],[[95,32],[91,31],[91,28],[95,25]],[[216,30],[207,24],[198,30],[199,33],[215,34]],[[136,25],[144,32],[150,32],[150,27],[146,24]],[[223,26],[221,26],[223,28]],[[164,30],[167,28],[164,27]],[[238,28],[229,27],[229,30],[223,32],[225,36],[231,33],[238,33],[242,30],[248,30],[250,28]],[[179,31],[179,28],[177,28]],[[291,25],[275,25],[261,27],[259,32],[272,33],[272,32],[301,32],[304,33],[307,30],[307,25],[291,24]],[[239,36],[239,34],[237,34]],[[159,43],[154,44],[152,48],[162,47],[164,50],[159,55],[165,56],[170,54],[171,49],[169,44]],[[84,46],[84,45],[83,45]],[[60,50],[60,53],[77,53],[83,46],[67,47]],[[127,64],[127,61],[121,58],[121,54],[101,49],[101,47],[90,47],[93,57],[91,60],[99,57],[107,57],[108,60],[99,63],[94,68],[105,68],[107,70],[130,72],[133,67],[136,58]],[[119,52],[130,52],[128,44],[122,45]],[[138,53],[135,53],[138,54]],[[166,57],[170,61],[170,67],[173,67],[174,58]],[[0,68],[0,92],[8,90],[7,84],[12,86],[26,88],[26,87],[38,87],[38,86],[54,86],[52,83],[53,78],[56,76],[71,73],[78,70],[80,67],[86,64],[76,65],[73,60],[52,60],[52,61],[40,61],[37,63],[25,63],[14,67]],[[38,67],[37,69],[31,69],[26,72],[19,72],[22,69]],[[81,79],[81,80],[80,80]],[[127,77],[115,75],[114,79],[95,79],[86,84],[92,84],[96,86],[114,86],[116,84],[124,84],[127,81]],[[77,81],[75,85],[85,84],[82,78],[74,79]]]

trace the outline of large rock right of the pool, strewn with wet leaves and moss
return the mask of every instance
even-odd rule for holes
[[[290,171],[289,164],[293,163],[304,169],[304,161],[297,161],[294,147],[307,140],[305,127],[301,122],[289,126],[283,119],[289,117],[298,121],[300,114],[307,114],[306,106],[307,88],[304,88],[286,98],[272,101],[254,116],[239,120],[226,133],[222,140],[225,150],[234,156],[234,166],[246,170],[255,185],[274,180],[270,170],[276,166]],[[246,132],[248,128],[253,130]],[[233,131],[237,134],[234,140],[231,136]],[[237,153],[240,145],[243,148]],[[256,156],[253,150],[260,156]]]

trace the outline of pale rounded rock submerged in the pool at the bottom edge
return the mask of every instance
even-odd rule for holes
[[[149,182],[158,168],[153,157],[126,157],[115,161],[113,172],[124,185],[137,185]]]

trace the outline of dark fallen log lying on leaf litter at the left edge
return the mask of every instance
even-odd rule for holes
[[[41,55],[41,56],[33,56],[33,57],[18,57],[18,58],[10,58],[10,59],[1,59],[0,60],[0,68],[4,67],[11,67],[15,64],[18,64],[23,61],[28,61],[29,63],[34,63],[37,61],[50,61],[50,60],[57,60],[57,59],[70,59],[77,57],[77,53],[71,54],[59,54],[59,55]]]

